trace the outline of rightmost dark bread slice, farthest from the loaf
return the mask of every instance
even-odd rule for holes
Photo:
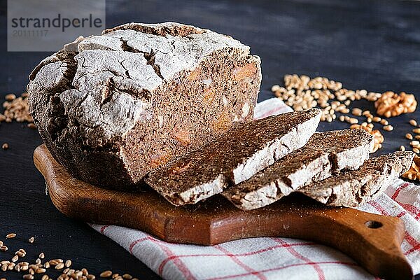
[[[358,170],[310,184],[300,193],[323,204],[356,207],[391,186],[412,165],[414,153],[394,152],[370,158]]]

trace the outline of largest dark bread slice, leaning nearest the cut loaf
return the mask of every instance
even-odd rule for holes
[[[320,117],[319,109],[310,109],[237,125],[216,141],[151,172],[145,181],[176,206],[194,204],[304,146]]]

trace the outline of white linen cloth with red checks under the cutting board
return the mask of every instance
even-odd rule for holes
[[[255,118],[291,111],[279,99],[255,108]],[[405,222],[402,251],[420,273],[420,187],[400,179],[376,200],[358,209],[397,216]],[[251,238],[216,246],[171,244],[116,225],[92,225],[164,279],[374,279],[354,260],[314,242],[290,238]],[[363,253],[363,251],[360,251]]]

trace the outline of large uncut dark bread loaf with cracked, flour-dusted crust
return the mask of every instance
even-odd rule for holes
[[[79,37],[29,76],[29,108],[54,158],[112,188],[253,120],[260,58],[230,36],[174,22]]]

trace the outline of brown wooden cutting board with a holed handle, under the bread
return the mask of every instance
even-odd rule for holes
[[[383,279],[412,279],[400,244],[400,218],[350,208],[325,207],[290,195],[262,209],[242,211],[216,195],[188,207],[174,207],[153,190],[123,193],[73,178],[45,145],[34,151],[55,207],[90,223],[123,225],[168,242],[214,245],[248,237],[293,237],[332,246]]]

